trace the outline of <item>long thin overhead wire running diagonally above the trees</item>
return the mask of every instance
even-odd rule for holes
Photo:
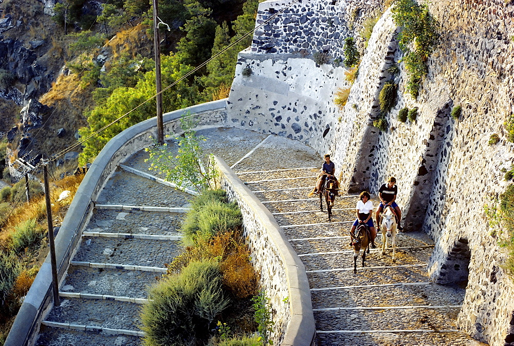
[[[234,41],[233,43],[229,44],[227,47],[223,48],[222,50],[220,50],[219,52],[217,52],[216,54],[214,54],[211,58],[209,58],[208,60],[206,60],[205,62],[201,63],[200,65],[198,65],[197,67],[195,67],[193,70],[189,71],[187,74],[183,75],[182,77],[180,77],[179,79],[177,79],[175,82],[173,82],[172,84],[168,85],[166,88],[162,89],[159,93],[155,94],[154,96],[150,97],[148,100],[142,102],[141,104],[139,104],[138,106],[134,107],[131,111],[128,111],[127,113],[123,114],[121,117],[119,117],[118,119],[112,121],[111,123],[103,126],[103,128],[95,131],[94,133],[92,133],[91,135],[89,135],[87,138],[81,140],[80,142],[74,144],[74,145],[71,145],[70,147],[62,150],[61,152],[55,154],[52,156],[52,158],[50,158],[50,161],[54,161],[56,159],[58,159],[59,157],[63,156],[64,154],[70,152],[72,149],[75,149],[78,145],[81,145],[82,143],[84,143],[85,141],[87,141],[88,139],[90,139],[91,137],[94,137],[96,136],[97,134],[99,134],[100,132],[102,132],[103,130],[107,129],[109,126],[112,126],[114,125],[116,122],[120,121],[121,119],[123,119],[124,117],[126,117],[128,114],[134,112],[135,110],[137,110],[137,108],[139,108],[140,106],[142,106],[143,104],[145,104],[146,102],[154,99],[155,97],[157,97],[157,95],[160,95],[162,93],[164,93],[166,90],[168,90],[169,88],[171,88],[172,86],[176,85],[177,83],[179,83],[180,81],[182,81],[183,79],[186,79],[187,77],[191,76],[192,74],[194,74],[197,70],[199,70],[200,68],[204,67],[205,65],[207,65],[211,60],[215,59],[216,57],[218,57],[219,55],[221,55],[222,53],[224,53],[225,51],[227,51],[228,49],[230,49],[231,47],[233,47],[234,45],[240,43],[241,41],[243,41],[249,34],[253,33],[256,29],[259,29],[261,28],[262,26],[268,24],[270,21],[274,20],[278,15],[282,14],[282,12],[284,12],[286,9],[288,9],[290,6],[298,3],[298,2],[301,2],[301,0],[295,0],[291,3],[289,3],[286,7],[282,8],[280,11],[278,11],[277,13],[274,13],[272,16],[270,16],[266,21],[264,21],[263,23],[261,23],[260,25],[256,26],[255,28],[253,28],[252,30],[246,32],[241,38],[237,39],[236,41]]]

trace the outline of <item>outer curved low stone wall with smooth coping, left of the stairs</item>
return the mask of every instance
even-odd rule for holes
[[[164,133],[180,133],[180,117],[195,114],[198,126],[222,125],[226,120],[226,99],[208,102],[163,115]],[[68,270],[82,227],[93,213],[94,201],[107,180],[129,156],[149,147],[157,136],[156,118],[142,121],[111,139],[87,171],[56,237],[56,260],[59,281]],[[53,306],[51,264],[47,257],[36,276],[19,313],[14,320],[5,345],[30,345],[38,335],[41,321]]]

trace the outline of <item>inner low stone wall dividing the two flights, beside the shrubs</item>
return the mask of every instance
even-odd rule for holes
[[[244,235],[261,286],[271,299],[276,345],[310,345],[316,333],[305,267],[273,215],[221,159],[215,158],[218,182],[243,214]]]

